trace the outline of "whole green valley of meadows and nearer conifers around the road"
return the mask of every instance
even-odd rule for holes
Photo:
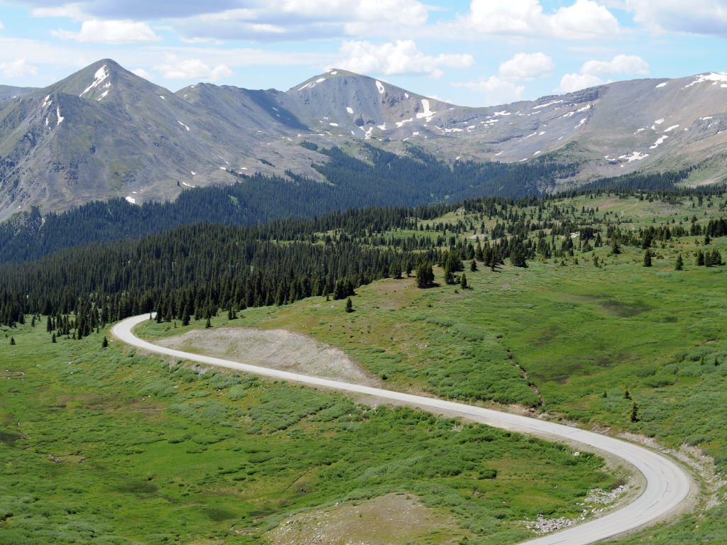
[[[303,542],[310,534],[302,521],[325,520],[332,528],[340,528],[337,513],[371,517],[376,515],[370,509],[383,509],[382,513],[405,509],[396,503],[403,496],[387,499],[396,497],[390,494],[403,494],[412,517],[439,521],[433,526],[422,523],[427,537],[411,534],[410,541],[505,544],[535,537],[526,523],[537,521],[538,515],[544,520],[577,519],[583,509],[579,504],[595,488],[612,491],[626,485],[618,505],[632,501],[640,491],[627,468],[585,456],[580,450],[574,456],[572,446],[481,428],[481,424],[451,420],[452,414],[435,417],[409,408],[386,408],[364,398],[216,371],[185,357],[163,359],[124,348],[111,336],[111,323],[146,307],[160,314],[157,320],[145,320],[136,331],[151,342],[180,339],[183,350],[200,348],[225,357],[228,350],[239,350],[227,344],[234,342],[235,328],[284,329],[340,350],[387,390],[496,408],[505,417],[510,412],[537,416],[543,424],[574,423],[647,444],[653,440],[680,464],[691,460],[691,465],[683,467],[694,478],[698,492],[684,516],[672,515],[666,524],[617,542],[636,543],[647,537],[664,544],[675,539],[697,543],[712,536],[719,540],[727,535],[721,522],[720,480],[726,438],[718,424],[723,419],[723,358],[727,354],[721,296],[725,268],[718,265],[727,255],[722,224],[725,206],[723,193],[698,191],[592,190],[522,201],[473,199],[416,211],[334,213],[262,227],[206,227],[206,232],[179,227],[143,243],[92,245],[38,262],[4,265],[0,279],[7,291],[0,314],[7,320],[15,308],[12,297],[7,299],[13,286],[23,286],[29,306],[24,324],[3,328],[6,339],[12,336],[15,343],[0,347],[3,360],[9,362],[8,383],[12,384],[0,404],[4,434],[0,448],[4,458],[29,449],[35,453],[33,464],[40,464],[33,470],[38,475],[51,469],[60,471],[57,475],[75,475],[73,479],[85,475],[87,485],[64,489],[71,512],[62,514],[41,482],[18,481],[13,477],[17,471],[8,470],[4,490],[10,491],[12,483],[15,488],[4,494],[6,516],[0,535],[23,543],[40,528],[34,517],[47,513],[56,532],[49,542],[69,542],[81,535],[80,528],[90,528],[83,531],[113,533],[119,543],[127,539],[155,543],[172,535],[163,520],[187,517],[191,509],[199,516],[188,519],[181,533],[175,530],[181,541],[202,531],[210,543],[220,537],[228,543],[275,543],[284,535],[292,539],[293,534],[281,533],[278,527],[279,521],[286,520],[286,526],[298,528]],[[196,235],[176,240],[182,233]],[[213,242],[220,236],[225,245]],[[179,246],[182,240],[188,242]],[[228,267],[234,262],[220,253],[230,243],[241,248],[256,240],[256,245],[265,244],[250,246],[257,248],[250,255],[264,251],[266,265],[255,260],[240,261],[239,269],[217,265],[217,259]],[[177,249],[170,253],[168,243]],[[358,257],[330,260],[338,253],[353,255],[347,253],[353,243],[358,251],[370,252],[361,265],[373,267],[352,268]],[[307,246],[313,254],[306,253]],[[204,253],[196,254],[200,248]],[[295,249],[295,253],[278,254],[273,251],[276,248]],[[332,253],[326,254],[325,249]],[[189,265],[197,264],[185,266],[184,275],[178,276],[176,267],[166,268],[182,263],[177,251],[184,252]],[[108,258],[104,257],[107,252]],[[513,259],[521,263],[518,252],[525,257],[526,267],[514,265]],[[700,253],[702,263],[709,256],[710,266],[697,265]],[[648,267],[646,254],[651,258]],[[313,263],[323,259],[332,275],[318,280],[313,273],[305,283],[287,265],[294,255],[299,256],[295,262],[303,270],[315,271],[320,265]],[[126,270],[113,265],[121,256],[126,256]],[[675,270],[679,257],[681,270]],[[430,259],[432,286],[417,287],[417,259]],[[91,278],[116,280],[87,283],[91,262],[95,264]],[[136,271],[132,262],[144,265]],[[203,262],[205,266],[199,267]],[[252,270],[267,268],[260,287],[255,287],[254,275],[241,283],[228,276],[232,270],[251,266]],[[280,277],[273,273],[276,270]],[[44,278],[42,285],[48,286],[43,291],[33,289],[36,280],[30,281],[39,275]],[[169,291],[153,287],[159,285],[158,278],[166,278],[161,285]],[[278,288],[271,295],[257,291],[273,278],[286,286],[283,291]],[[350,294],[347,282],[355,294]],[[190,291],[190,283],[198,283],[195,291]],[[248,288],[252,288],[249,296]],[[103,299],[82,295],[98,289],[107,294]],[[114,290],[120,291],[114,295]],[[75,302],[68,299],[72,293],[80,295]],[[104,302],[107,298],[110,305]],[[347,298],[353,312],[345,310]],[[42,310],[46,304],[53,309],[50,318]],[[63,304],[71,310],[68,315]],[[51,331],[45,331],[51,327],[48,319],[53,322]],[[81,335],[84,323],[95,324],[92,328],[98,328],[98,333],[91,329]],[[211,334],[217,335],[212,346],[204,340]],[[57,342],[51,342],[51,336]],[[108,347],[103,347],[103,339],[109,339]],[[28,361],[38,361],[40,371],[33,371]],[[374,410],[369,409],[371,405]],[[51,418],[52,414],[56,416]],[[134,419],[129,421],[129,414]],[[382,435],[379,424],[371,421],[374,415],[383,415],[381,425],[391,435]],[[409,431],[391,428],[389,415]],[[69,419],[68,424],[57,421],[62,417]],[[96,440],[86,431],[94,419],[108,421],[92,427]],[[126,421],[143,424],[144,432],[124,435]],[[548,454],[552,464],[543,465],[542,454],[513,450],[513,443],[507,443],[499,451],[501,461],[485,453],[478,453],[475,461],[462,450],[467,442],[449,450],[432,443],[431,453],[422,446],[426,442],[415,440],[411,450],[401,443],[407,437],[414,440],[410,433],[429,437],[435,425],[442,430],[473,429],[473,433],[488,430],[488,434],[504,434],[497,435],[503,440],[556,449],[562,455]],[[56,443],[48,443],[54,436],[44,426],[64,430]],[[111,430],[119,448],[108,450],[102,445],[110,440]],[[172,437],[172,432],[180,437]],[[344,440],[340,434],[364,434],[353,443],[345,440],[364,451],[345,454],[342,443],[337,443],[339,437]],[[38,443],[34,437],[45,439]],[[385,437],[391,437],[388,446],[377,446]],[[447,437],[443,433],[437,440]],[[246,446],[251,440],[264,440],[266,446]],[[493,440],[475,440],[473,448],[484,445],[494,446]],[[291,449],[296,448],[314,459],[293,456],[298,451]],[[260,457],[260,452],[265,456]],[[454,456],[447,458],[451,471],[443,472],[437,452]],[[325,453],[329,459],[316,458]],[[170,456],[187,472],[169,475],[164,468]],[[528,456],[540,456],[540,461],[529,462]],[[116,504],[126,503],[124,494],[137,498],[134,504],[142,500],[147,528],[143,535],[139,527],[126,522],[134,520],[132,511],[116,522],[102,522],[93,515],[100,509],[97,502],[102,496],[89,496],[84,489],[109,490],[103,468],[112,460],[117,472],[128,468],[135,475],[150,477],[148,482],[154,485],[138,483],[112,495],[118,498]],[[365,460],[369,462],[364,464]],[[12,464],[8,467],[15,467]],[[273,466],[266,469],[265,464]],[[285,469],[288,464],[294,467]],[[317,469],[308,469],[313,467]],[[574,468],[595,473],[577,477]],[[283,477],[279,486],[276,479],[262,478],[272,475],[270,471]],[[361,481],[353,475],[369,477]],[[300,488],[296,484],[285,488],[289,480],[300,478]],[[568,485],[577,478],[582,485]],[[191,498],[184,495],[188,487]],[[111,501],[108,493],[103,501]],[[399,506],[391,507],[391,501]],[[20,516],[20,505],[33,507]],[[588,509],[601,507],[593,504]],[[153,535],[150,528],[155,528]]]

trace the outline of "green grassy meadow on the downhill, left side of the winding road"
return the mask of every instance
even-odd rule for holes
[[[406,528],[381,543],[507,544],[619,483],[561,445],[103,348],[104,334],[0,330],[1,544],[265,544],[296,513],[401,506]]]

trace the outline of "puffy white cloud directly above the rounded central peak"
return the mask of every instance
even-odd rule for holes
[[[369,41],[344,41],[340,54],[340,68],[359,73],[427,73],[443,76],[441,67],[467,68],[475,63],[472,55],[425,55],[411,40],[398,40],[395,44],[371,44]]]

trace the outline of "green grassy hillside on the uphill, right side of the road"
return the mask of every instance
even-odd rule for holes
[[[650,227],[681,224],[688,231],[692,223],[706,226],[723,217],[725,205],[718,198],[580,195],[553,206],[574,232],[607,222],[625,236]],[[468,225],[481,233],[483,222],[491,233],[497,222],[464,212],[424,223],[432,229],[449,225],[445,237],[471,241],[475,233]],[[518,212],[553,214],[535,208]],[[458,222],[465,228],[453,233],[451,226]],[[237,320],[222,315],[212,324],[310,334],[345,350],[391,388],[514,403],[588,427],[654,437],[675,450],[703,451],[724,475],[727,267],[698,266],[695,254],[716,250],[726,257],[727,238],[712,238],[706,245],[702,234],[654,240],[648,249],[652,265],[646,267],[646,249],[622,244],[614,254],[605,226],[598,228],[602,246],[583,251],[579,236],[555,235],[555,246],[574,242],[573,255],[540,256],[527,268],[508,264],[493,271],[479,262],[473,272],[465,262],[467,289],[446,285],[443,271],[435,267],[438,286],[433,288],[419,289],[413,278],[358,288],[352,297],[355,312],[345,312],[345,301],[313,297],[247,309]],[[545,236],[551,240],[550,233]],[[683,270],[675,270],[679,255]],[[149,323],[141,331],[153,338],[199,326]],[[722,520],[723,508],[717,507],[644,535],[656,543],[724,541]]]

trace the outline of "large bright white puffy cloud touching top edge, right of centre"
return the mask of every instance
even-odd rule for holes
[[[617,36],[619,23],[594,0],[576,0],[553,14],[543,12],[539,0],[472,0],[470,12],[459,23],[483,37],[539,36],[557,39],[604,39]]]

